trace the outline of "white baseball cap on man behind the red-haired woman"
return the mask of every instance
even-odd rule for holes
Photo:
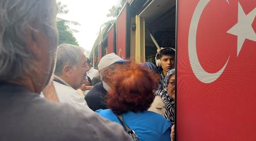
[[[98,64],[98,69],[99,71],[102,70],[103,68],[114,64],[114,63],[122,63],[122,62],[127,62],[130,60],[123,60],[121,57],[117,56],[115,53],[111,53],[108,55],[103,56]]]

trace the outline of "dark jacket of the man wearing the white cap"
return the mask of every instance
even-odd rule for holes
[[[86,97],[84,98],[87,102],[87,105],[90,109],[93,111],[96,111],[98,109],[106,109],[106,94],[108,91],[106,91],[103,87],[103,83],[97,83],[93,89],[91,89]]]

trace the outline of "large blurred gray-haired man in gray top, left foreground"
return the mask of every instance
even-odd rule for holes
[[[0,140],[130,140],[96,113],[42,99],[56,62],[54,0],[0,1]]]

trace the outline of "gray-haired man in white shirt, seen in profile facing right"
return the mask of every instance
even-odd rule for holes
[[[92,111],[76,91],[82,86],[88,70],[83,48],[67,43],[58,46],[53,83],[59,102]]]

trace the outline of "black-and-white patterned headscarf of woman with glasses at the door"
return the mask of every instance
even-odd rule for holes
[[[165,110],[164,110],[164,117],[168,120],[170,120],[170,122],[174,122],[174,117],[175,117],[175,113],[174,113],[174,108],[175,108],[175,104],[174,104],[174,100],[171,99],[168,95],[167,92],[167,81],[170,78],[170,76],[172,76],[172,74],[175,73],[175,68],[174,69],[170,69],[168,71],[168,73],[166,74],[166,77],[164,78],[164,88],[162,89],[158,89],[155,92],[155,95],[160,96],[164,105],[165,105]]]

